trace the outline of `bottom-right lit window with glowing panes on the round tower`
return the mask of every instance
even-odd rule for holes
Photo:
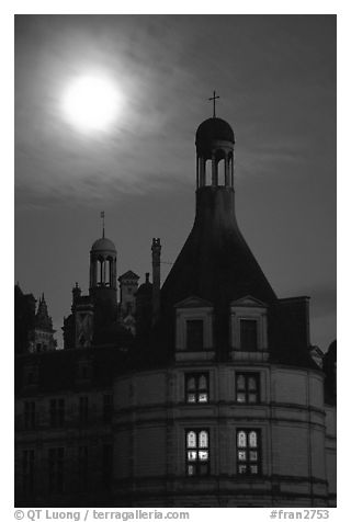
[[[240,429],[237,431],[237,470],[240,475],[259,475],[260,447],[258,430]]]

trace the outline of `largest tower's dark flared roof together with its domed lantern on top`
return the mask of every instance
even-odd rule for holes
[[[195,144],[195,222],[161,290],[163,325],[176,336],[174,306],[189,297],[203,299],[216,317],[213,348],[225,356],[230,303],[251,296],[271,305],[276,297],[236,220],[233,128],[215,116],[205,120]]]

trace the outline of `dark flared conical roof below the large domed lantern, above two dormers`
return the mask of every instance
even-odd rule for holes
[[[195,223],[163,284],[162,304],[173,306],[190,295],[210,300],[218,311],[246,295],[267,304],[276,299],[238,228],[233,189],[197,191]]]

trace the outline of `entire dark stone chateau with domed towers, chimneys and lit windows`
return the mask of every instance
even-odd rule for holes
[[[230,125],[195,144],[195,220],[162,287],[159,238],[139,285],[103,230],[64,350],[16,288],[16,506],[336,506],[336,344],[317,364],[308,297],[279,298],[238,228]]]

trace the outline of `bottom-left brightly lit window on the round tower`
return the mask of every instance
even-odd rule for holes
[[[186,475],[207,475],[210,473],[208,430],[186,431]]]

